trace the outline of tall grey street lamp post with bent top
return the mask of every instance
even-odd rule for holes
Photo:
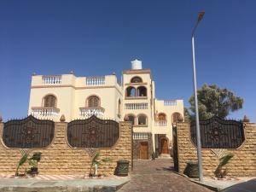
[[[195,72],[195,29],[198,26],[199,22],[202,20],[205,15],[204,11],[201,11],[198,15],[198,19],[196,21],[195,27],[192,31],[192,57],[193,57],[193,78],[194,78],[194,94],[195,94],[195,123],[196,123],[196,141],[197,141],[197,159],[198,159],[198,172],[199,172],[199,181],[203,181],[202,174],[202,162],[201,162],[201,137],[200,137],[200,124],[199,124],[199,116],[198,116],[198,102],[197,102],[197,87],[196,87],[196,72]]]

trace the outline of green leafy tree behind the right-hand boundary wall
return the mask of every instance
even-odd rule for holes
[[[197,90],[198,113],[199,118],[209,119],[217,115],[220,118],[227,117],[230,112],[242,108],[243,99],[235,96],[233,92],[227,89],[221,89],[216,84],[204,84],[200,90]],[[195,119],[195,96],[189,98],[190,108],[187,110],[187,116],[190,120]]]

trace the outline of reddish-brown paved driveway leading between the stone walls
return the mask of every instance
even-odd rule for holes
[[[172,172],[172,159],[135,160],[131,181],[118,192],[212,192]]]

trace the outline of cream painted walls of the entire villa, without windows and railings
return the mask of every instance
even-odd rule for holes
[[[147,70],[146,70],[147,71]],[[61,114],[64,114],[66,121],[71,119],[81,119],[79,108],[85,107],[85,101],[88,96],[96,95],[101,99],[101,107],[105,109],[104,118],[115,120],[123,120],[125,114],[132,113],[147,115],[147,126],[135,125],[134,132],[151,132],[153,134],[153,144],[155,134],[165,134],[172,143],[172,113],[181,113],[183,116],[183,100],[176,100],[176,104],[172,106],[165,105],[165,101],[155,98],[155,84],[151,77],[151,73],[137,73],[132,70],[129,73],[123,73],[123,84],[120,86],[115,75],[106,75],[96,77],[96,79],[104,79],[104,84],[86,84],[90,77],[76,77],[74,74],[63,74],[60,76],[32,76],[32,88],[29,102],[28,113],[32,113],[32,107],[43,107],[43,98],[47,94],[53,94],[57,97],[57,108],[60,108],[58,115],[51,117],[55,121],[59,121]],[[142,72],[142,71],[140,71]],[[144,70],[145,72],[145,70]],[[148,71],[149,72],[149,71]],[[143,79],[143,84],[131,84],[133,77]],[[61,78],[61,82],[45,83],[44,78]],[[125,90],[129,86],[135,88],[143,85],[147,88],[147,98],[134,97],[127,98]],[[167,84],[166,84],[167,85]],[[121,100],[121,116],[118,115],[118,101]],[[147,109],[125,109],[127,103],[148,103]],[[156,125],[155,114],[166,113],[167,121],[165,126]],[[43,117],[44,118],[44,117]]]

